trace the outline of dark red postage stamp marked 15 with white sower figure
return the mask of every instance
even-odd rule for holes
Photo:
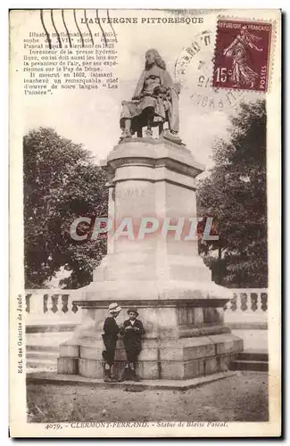
[[[272,24],[218,21],[212,87],[266,92]]]

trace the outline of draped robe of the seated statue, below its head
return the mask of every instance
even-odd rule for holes
[[[158,87],[162,87],[162,94],[156,93]],[[120,128],[125,128],[124,120],[132,120],[132,133],[135,133],[140,124],[141,127],[146,125],[146,120],[142,119],[146,109],[153,108],[155,120],[164,122],[168,115],[170,130],[178,132],[178,88],[167,70],[156,65],[144,70],[137,82],[135,97],[139,99],[122,102]]]

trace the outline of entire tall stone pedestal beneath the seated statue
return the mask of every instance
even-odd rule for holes
[[[125,140],[104,165],[112,178],[108,255],[95,269],[86,299],[77,301],[84,309],[83,325],[60,346],[58,372],[103,376],[102,331],[112,301],[123,308],[118,323],[130,306],[137,307],[144,323],[137,364],[144,379],[187,379],[226,370],[243,341],[224,325],[230,293],[211,282],[191,234],[195,178],[203,166],[185,146],[151,138]],[[150,227],[150,219],[155,230],[140,237],[140,226],[147,221]],[[115,359],[117,372],[126,360],[121,339]]]

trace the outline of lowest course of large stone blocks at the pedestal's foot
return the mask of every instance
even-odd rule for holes
[[[146,342],[145,342],[146,343]],[[156,342],[157,343],[157,342]],[[118,376],[126,365],[122,342],[118,342],[112,373]],[[103,345],[80,345],[79,357],[70,356],[70,344],[62,344],[58,359],[58,373],[102,378]],[[213,335],[179,339],[174,345],[160,343],[159,348],[144,348],[137,362],[137,373],[143,379],[190,379],[225,372],[243,350],[243,341],[235,335]]]

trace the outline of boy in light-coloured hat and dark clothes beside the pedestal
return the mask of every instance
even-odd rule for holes
[[[120,315],[120,306],[118,303],[111,303],[109,305],[110,316],[104,321],[104,382],[110,383],[116,381],[112,376],[112,365],[115,359],[116,343],[118,341],[118,335],[120,333],[120,327],[116,322],[116,318]]]

